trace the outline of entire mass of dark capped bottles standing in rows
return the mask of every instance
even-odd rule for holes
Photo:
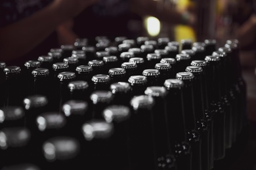
[[[210,170],[246,122],[239,42],[96,37],[1,62],[3,169]]]

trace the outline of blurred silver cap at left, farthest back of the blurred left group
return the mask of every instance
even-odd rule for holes
[[[26,110],[30,110],[32,108],[46,106],[48,104],[48,100],[44,95],[30,95],[23,100],[23,104]]]

